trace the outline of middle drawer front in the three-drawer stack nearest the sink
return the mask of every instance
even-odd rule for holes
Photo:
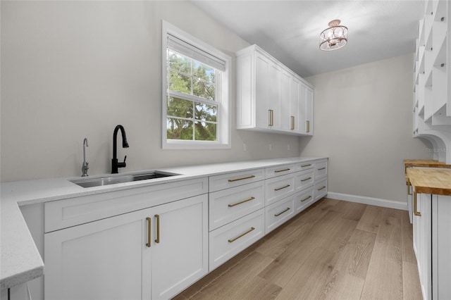
[[[209,230],[264,207],[264,181],[223,189],[209,195]]]

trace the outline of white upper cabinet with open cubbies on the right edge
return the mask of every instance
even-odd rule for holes
[[[414,76],[414,137],[428,139],[434,159],[451,163],[451,3],[425,1]]]

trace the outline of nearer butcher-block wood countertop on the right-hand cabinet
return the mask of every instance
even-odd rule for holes
[[[407,176],[416,193],[451,196],[451,170],[408,168]]]

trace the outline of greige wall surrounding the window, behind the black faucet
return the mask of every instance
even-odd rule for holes
[[[161,149],[161,19],[229,55],[248,46],[190,2],[0,5],[1,181],[81,175],[85,137],[89,175],[109,173],[117,124],[130,144],[120,172],[299,155],[298,137],[237,131],[235,113],[232,149]]]

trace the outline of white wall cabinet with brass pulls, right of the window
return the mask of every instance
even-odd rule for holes
[[[257,45],[237,52],[237,129],[313,134],[314,90]]]

